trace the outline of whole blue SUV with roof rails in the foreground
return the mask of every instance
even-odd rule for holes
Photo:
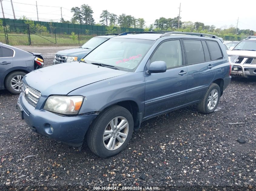
[[[201,33],[123,33],[80,62],[24,76],[17,108],[34,132],[110,157],[143,121],[192,104],[212,113],[231,81],[221,40]],[[41,83],[44,81],[44,83]]]

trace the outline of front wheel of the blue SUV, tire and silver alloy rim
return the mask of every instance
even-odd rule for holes
[[[87,145],[100,157],[111,157],[121,152],[131,139],[133,118],[124,107],[115,105],[101,112],[89,127]]]

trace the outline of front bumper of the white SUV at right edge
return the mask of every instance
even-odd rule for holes
[[[241,76],[247,78],[248,76],[256,76],[256,65],[232,64],[231,75]],[[234,70],[236,69],[237,70]]]

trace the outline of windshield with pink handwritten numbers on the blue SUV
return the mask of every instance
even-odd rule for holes
[[[94,49],[83,60],[134,72],[153,43],[153,40],[112,38]]]

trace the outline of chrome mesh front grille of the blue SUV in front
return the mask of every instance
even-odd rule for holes
[[[39,97],[41,96],[40,91],[37,91],[34,88],[30,87],[28,84],[23,83],[22,92],[27,102],[35,107],[39,100]]]

